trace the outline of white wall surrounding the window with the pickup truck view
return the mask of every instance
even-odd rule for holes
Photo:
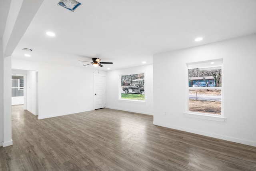
[[[107,71],[107,99],[106,107],[136,113],[153,114],[153,65],[125,68]],[[145,75],[145,102],[119,100],[120,75],[144,73]]]

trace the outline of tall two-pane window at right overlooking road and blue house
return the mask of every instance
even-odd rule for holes
[[[224,118],[222,59],[189,63],[186,73],[185,114]]]

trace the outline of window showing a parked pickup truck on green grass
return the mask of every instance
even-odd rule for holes
[[[124,100],[145,100],[144,73],[120,76],[120,97]]]

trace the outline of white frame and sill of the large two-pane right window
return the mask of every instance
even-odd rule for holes
[[[193,67],[191,68],[191,66],[204,66],[204,68],[208,68],[210,66],[209,64],[213,62],[216,62],[217,65],[221,67],[221,74],[222,74],[221,87],[189,87],[188,70],[193,68]],[[223,113],[223,89],[224,89],[223,81],[224,81],[223,59],[187,63],[186,64],[186,107],[185,107],[184,115],[186,117],[224,122],[226,117],[224,117],[224,113]],[[218,114],[212,114],[212,113],[201,113],[201,112],[189,111],[189,90],[190,89],[220,89],[221,90],[221,114],[218,115]]]

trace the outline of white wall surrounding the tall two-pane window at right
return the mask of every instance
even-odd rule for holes
[[[185,117],[186,63],[220,58],[224,65],[223,113],[227,119],[219,122]],[[162,61],[168,65],[163,67]],[[155,125],[256,146],[255,34],[158,54],[153,62]]]

